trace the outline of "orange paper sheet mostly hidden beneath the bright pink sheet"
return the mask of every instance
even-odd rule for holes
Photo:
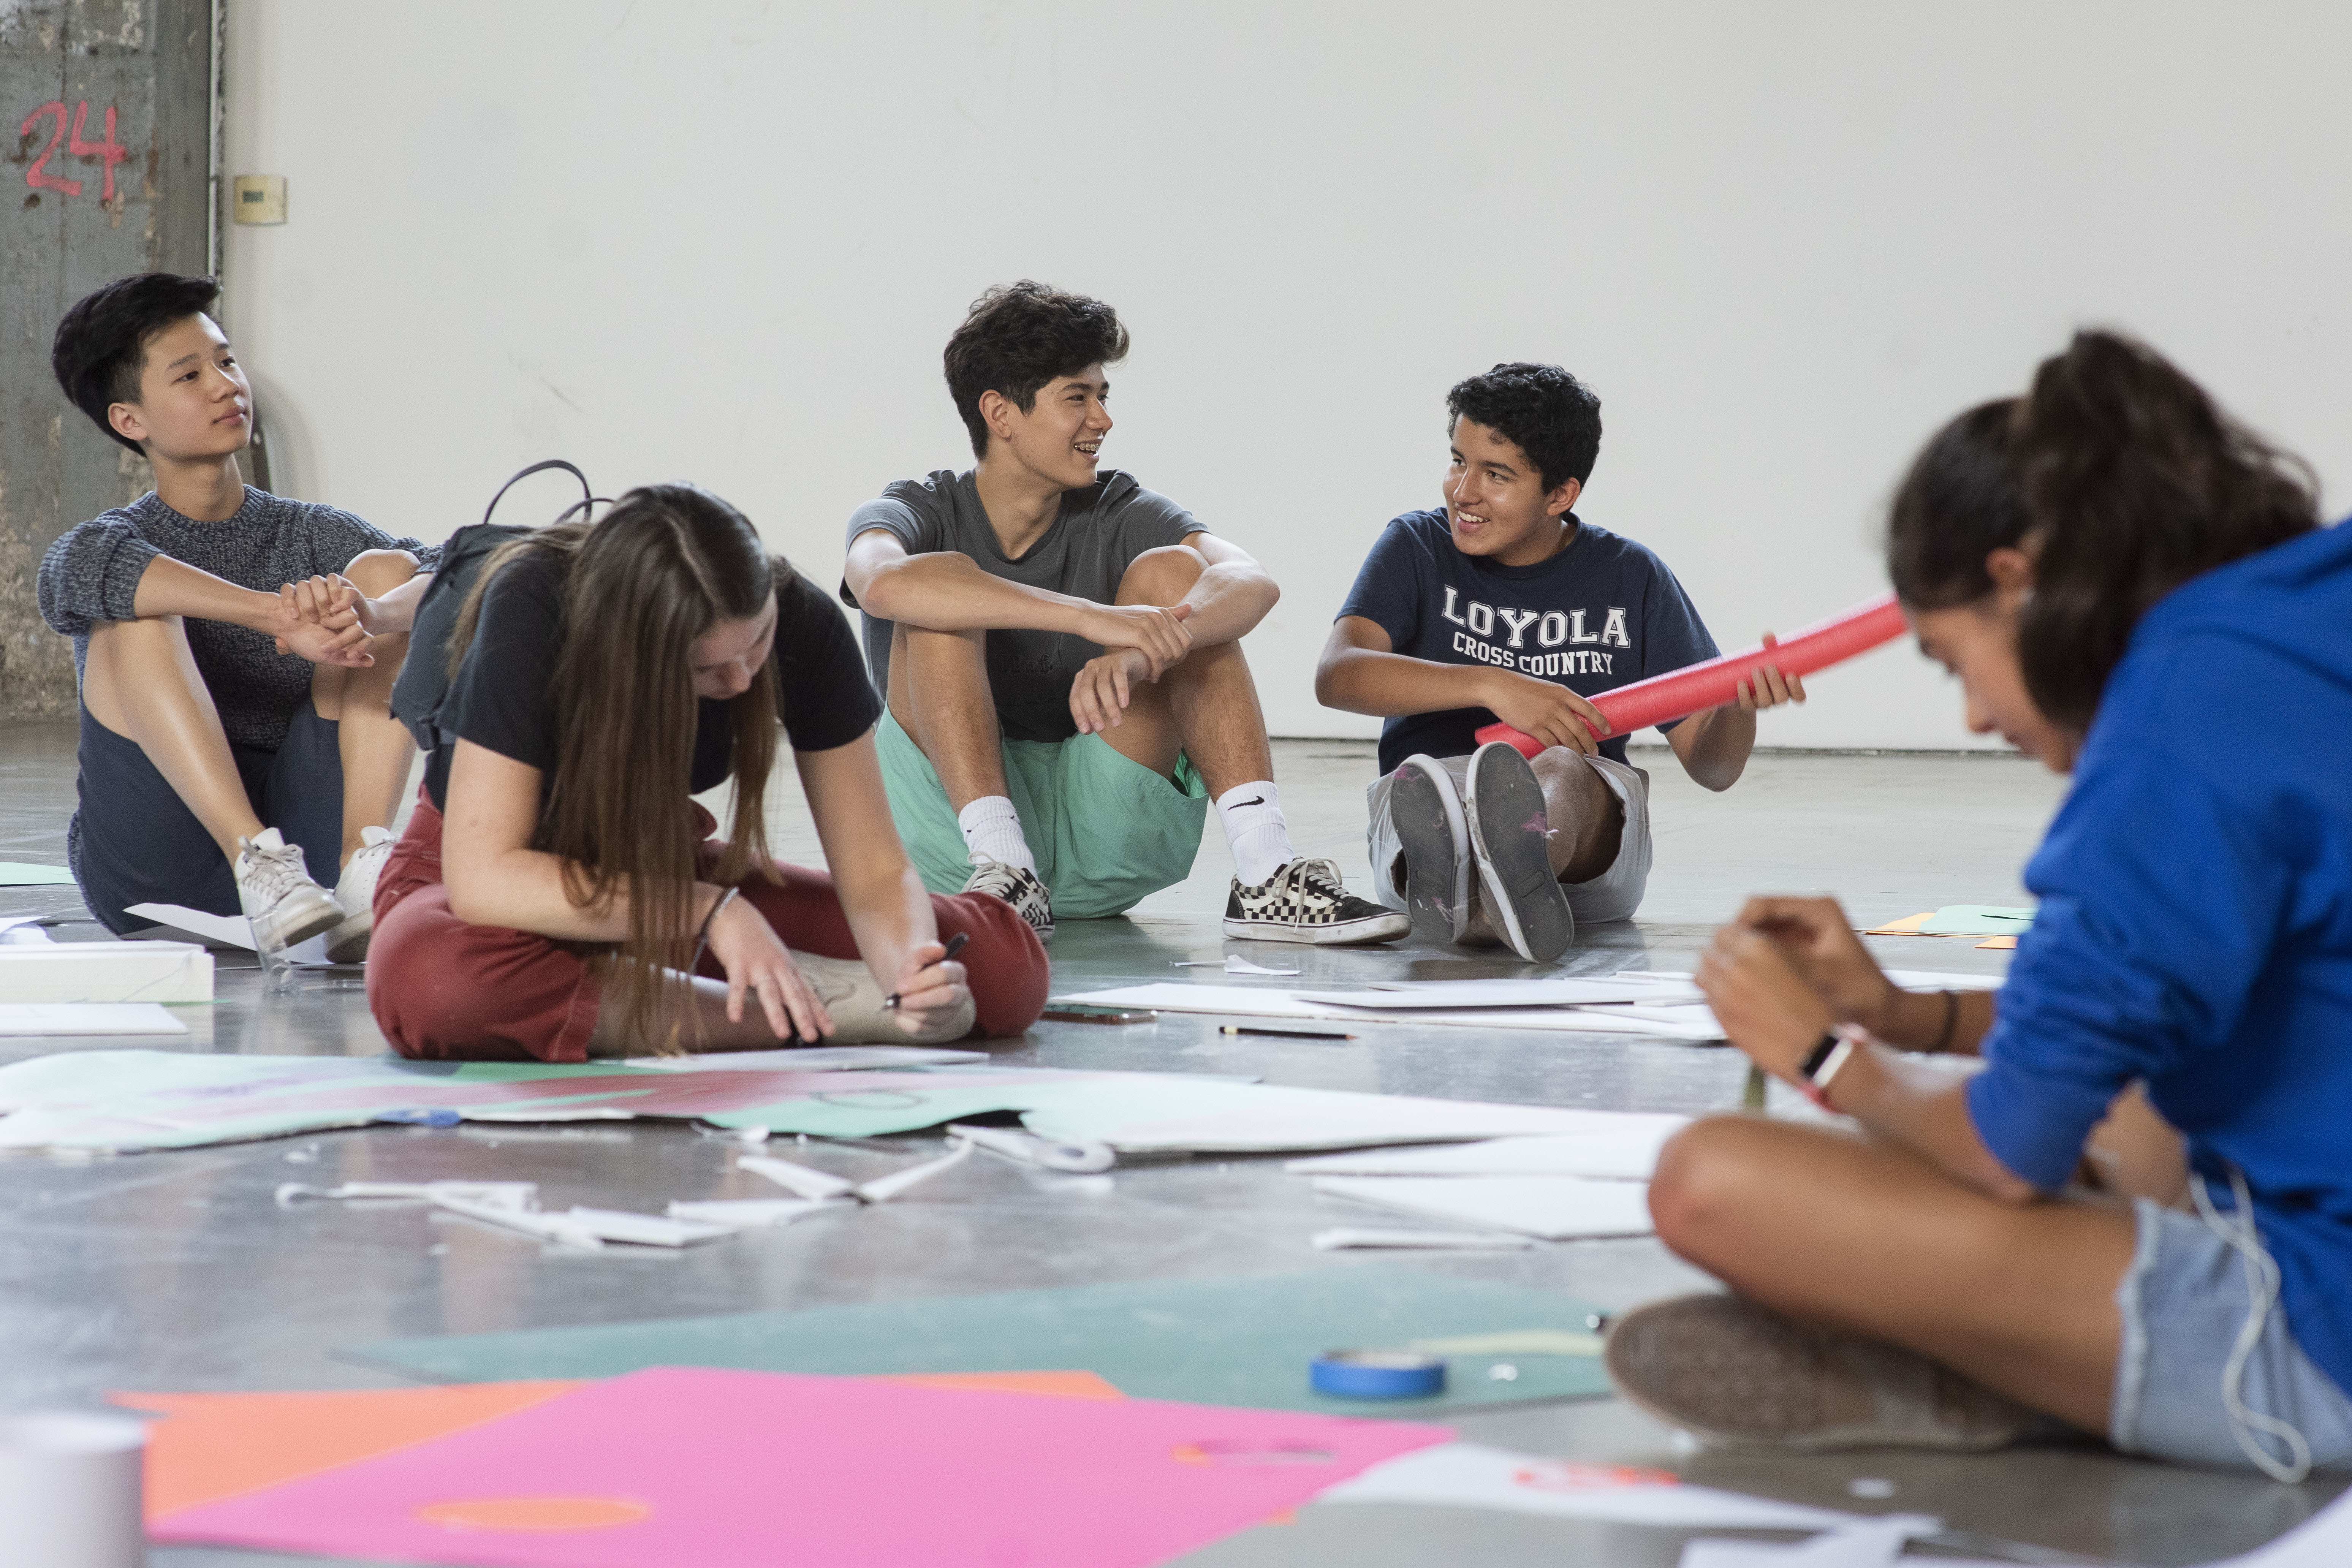
[[[1127,1399],[1096,1373],[906,1373],[880,1382],[934,1389]],[[292,1394],[111,1394],[148,1425],[146,1516],[223,1502],[527,1410],[579,1382],[452,1382],[428,1389]],[[572,1502],[572,1500],[555,1500]],[[496,1528],[496,1526],[477,1526]],[[574,1526],[579,1528],[579,1526]]]

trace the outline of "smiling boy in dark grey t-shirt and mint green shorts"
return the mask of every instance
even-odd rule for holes
[[[1110,306],[990,289],[948,339],[978,463],[891,484],[849,520],[844,597],[889,715],[891,818],[924,884],[1037,929],[1183,882],[1214,799],[1232,849],[1225,936],[1385,943],[1411,922],[1301,858],[1240,639],[1282,590],[1117,470]]]

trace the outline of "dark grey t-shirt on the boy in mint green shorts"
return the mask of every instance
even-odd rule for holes
[[[1181,545],[1207,524],[1167,496],[1136,484],[1134,475],[1105,470],[1087,489],[1061,498],[1061,515],[1028,555],[1007,559],[988,527],[988,510],[971,475],[941,468],[927,480],[901,480],[868,501],[849,520],[849,541],[866,529],[898,536],[908,555],[953,550],[978,562],[981,571],[1023,588],[1065,592],[1096,604],[1120,597],[1120,578],[1145,550]],[[849,599],[849,590],[842,590]],[[866,668],[875,691],[889,696],[891,623],[866,616]],[[1070,719],[1070,682],[1080,665],[1101,656],[1101,646],[1070,632],[993,630],[988,632],[988,686],[997,698],[997,724],[1007,741],[1068,741],[1077,733]]]

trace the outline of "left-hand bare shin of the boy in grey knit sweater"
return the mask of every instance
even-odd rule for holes
[[[94,625],[82,665],[82,703],[92,719],[146,752],[221,856],[235,865],[238,839],[256,837],[261,818],[245,797],[228,736],[221,733],[221,712],[195,670],[181,618]]]

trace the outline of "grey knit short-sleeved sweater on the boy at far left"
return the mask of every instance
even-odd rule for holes
[[[139,578],[158,555],[209,571],[238,588],[278,592],[285,583],[341,571],[367,550],[407,550],[423,571],[440,545],[393,538],[383,529],[315,501],[287,501],[245,487],[245,505],[221,522],[198,522],[148,491],[64,534],[40,557],[40,616],[73,637],[73,677],[89,658],[89,628],[136,621]],[[188,621],[188,651],[221,712],[230,745],[275,752],[310,696],[308,658],[280,654],[261,632],[226,621]]]

